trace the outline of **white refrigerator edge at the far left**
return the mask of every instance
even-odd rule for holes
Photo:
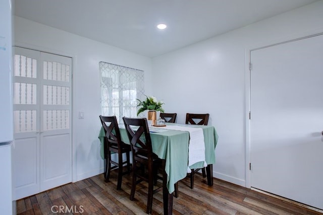
[[[13,141],[11,0],[0,0],[0,213],[13,213],[11,151]]]

